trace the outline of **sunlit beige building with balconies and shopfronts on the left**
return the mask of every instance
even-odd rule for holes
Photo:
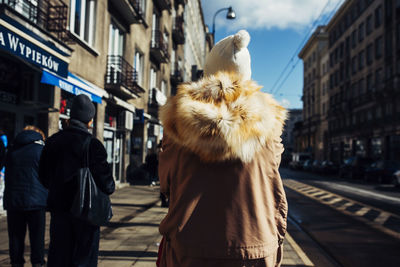
[[[11,142],[27,124],[49,136],[65,127],[71,99],[84,93],[96,106],[93,134],[115,179],[125,182],[128,165],[156,151],[158,109],[184,81],[185,27],[195,21],[185,21],[192,19],[187,4],[0,0],[0,128]],[[205,43],[196,8],[197,43]]]

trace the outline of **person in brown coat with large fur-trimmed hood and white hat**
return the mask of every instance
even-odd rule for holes
[[[218,42],[204,77],[163,106],[160,266],[279,266],[287,201],[278,167],[286,110],[251,80],[250,36]]]

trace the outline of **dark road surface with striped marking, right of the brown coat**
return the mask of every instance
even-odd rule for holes
[[[400,190],[287,169],[281,175],[289,218],[339,266],[400,265]]]

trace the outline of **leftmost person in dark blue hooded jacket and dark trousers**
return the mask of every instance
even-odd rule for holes
[[[31,263],[44,265],[47,190],[39,181],[39,160],[45,136],[35,126],[17,135],[5,161],[4,209],[7,210],[11,265],[23,266],[29,229]]]

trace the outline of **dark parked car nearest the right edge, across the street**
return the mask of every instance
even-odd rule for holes
[[[365,170],[365,180],[378,183],[393,183],[395,173],[400,170],[400,162],[378,160]]]

